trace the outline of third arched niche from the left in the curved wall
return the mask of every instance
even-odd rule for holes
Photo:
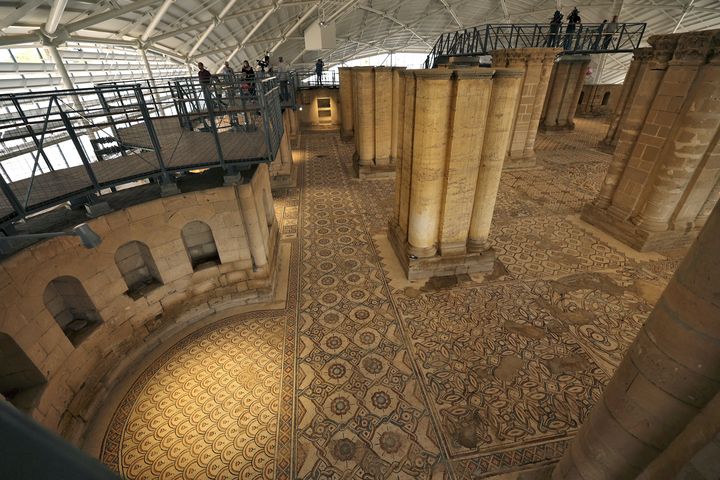
[[[127,294],[138,299],[162,285],[160,272],[147,245],[133,240],[115,251],[115,264],[128,287]]]

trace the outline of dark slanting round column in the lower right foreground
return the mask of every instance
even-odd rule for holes
[[[720,209],[670,280],[553,480],[645,478],[720,391]]]

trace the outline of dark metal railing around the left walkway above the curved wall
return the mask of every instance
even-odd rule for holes
[[[276,77],[238,76],[0,95],[0,229],[140,180],[271,162],[280,92]]]

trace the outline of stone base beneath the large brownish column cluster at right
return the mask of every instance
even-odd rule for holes
[[[651,232],[593,204],[585,205],[580,218],[640,252],[685,248],[690,246],[700,233],[699,227]]]

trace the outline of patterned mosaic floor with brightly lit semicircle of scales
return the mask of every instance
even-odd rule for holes
[[[592,148],[604,126],[577,124],[503,174],[494,272],[428,282],[389,253],[393,181],[352,179],[351,144],[306,135],[298,187],[274,192],[285,309],[154,361],[102,460],[133,479],[458,480],[557,461],[678,263],[579,220],[610,157]]]

